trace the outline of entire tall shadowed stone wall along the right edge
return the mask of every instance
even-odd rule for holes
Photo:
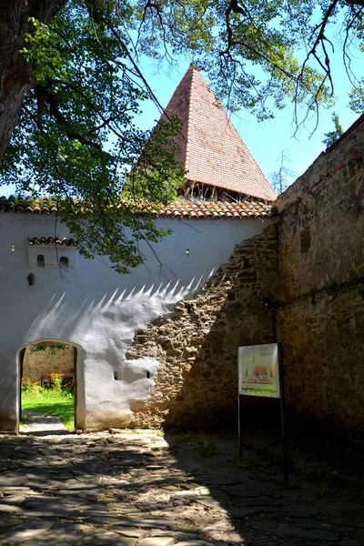
[[[364,430],[364,117],[278,197],[288,405]]]

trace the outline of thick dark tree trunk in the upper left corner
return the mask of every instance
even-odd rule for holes
[[[17,123],[23,97],[35,76],[20,50],[31,32],[29,17],[48,25],[65,0],[0,0],[0,162]]]

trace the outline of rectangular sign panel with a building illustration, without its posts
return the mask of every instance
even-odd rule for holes
[[[280,398],[278,344],[238,348],[239,394]]]

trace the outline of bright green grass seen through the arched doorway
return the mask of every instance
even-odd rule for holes
[[[45,389],[32,383],[23,387],[22,409],[54,415],[67,430],[75,429],[75,400],[72,393],[61,389],[59,381],[55,389]]]

